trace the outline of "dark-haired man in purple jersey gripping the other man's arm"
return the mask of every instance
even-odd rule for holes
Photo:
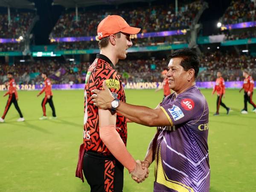
[[[145,167],[156,161],[154,192],[209,192],[209,109],[195,86],[199,58],[190,49],[176,50],[168,69],[169,87],[175,93],[156,109],[125,102],[113,106],[114,98],[105,84],[104,90],[93,90],[93,102],[102,109],[116,108],[133,122],[157,126],[142,161]]]

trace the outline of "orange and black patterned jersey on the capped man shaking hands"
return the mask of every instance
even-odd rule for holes
[[[91,91],[102,89],[102,83],[106,80],[107,87],[113,96],[125,102],[125,92],[122,86],[121,76],[116,71],[112,62],[105,55],[97,54],[93,64],[90,65],[84,88],[84,147],[85,151],[96,151],[99,154],[111,155],[111,152],[99,137],[98,107],[93,105]],[[126,145],[127,124],[126,118],[116,114],[116,131]]]

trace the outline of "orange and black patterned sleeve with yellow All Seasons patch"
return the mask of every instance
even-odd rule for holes
[[[103,81],[106,80],[107,87],[110,89],[114,98],[122,100],[121,80],[116,71],[110,70],[110,75],[101,78],[98,89],[102,89]]]

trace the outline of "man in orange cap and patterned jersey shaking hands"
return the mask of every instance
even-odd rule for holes
[[[119,59],[125,59],[132,46],[131,34],[140,32],[118,15],[108,15],[97,28],[100,54],[88,69],[84,88],[84,143],[80,146],[76,177],[83,178],[91,192],[121,192],[124,167],[142,182],[148,169],[141,167],[126,149],[127,120],[116,113],[119,101],[125,102],[121,76],[116,71]],[[103,110],[91,99],[91,91],[102,89],[106,80],[113,97],[111,110]]]

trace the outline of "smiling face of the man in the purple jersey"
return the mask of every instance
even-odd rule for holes
[[[168,77],[169,88],[179,93],[189,83],[189,71],[185,71],[180,65],[182,58],[172,58],[168,64]]]

